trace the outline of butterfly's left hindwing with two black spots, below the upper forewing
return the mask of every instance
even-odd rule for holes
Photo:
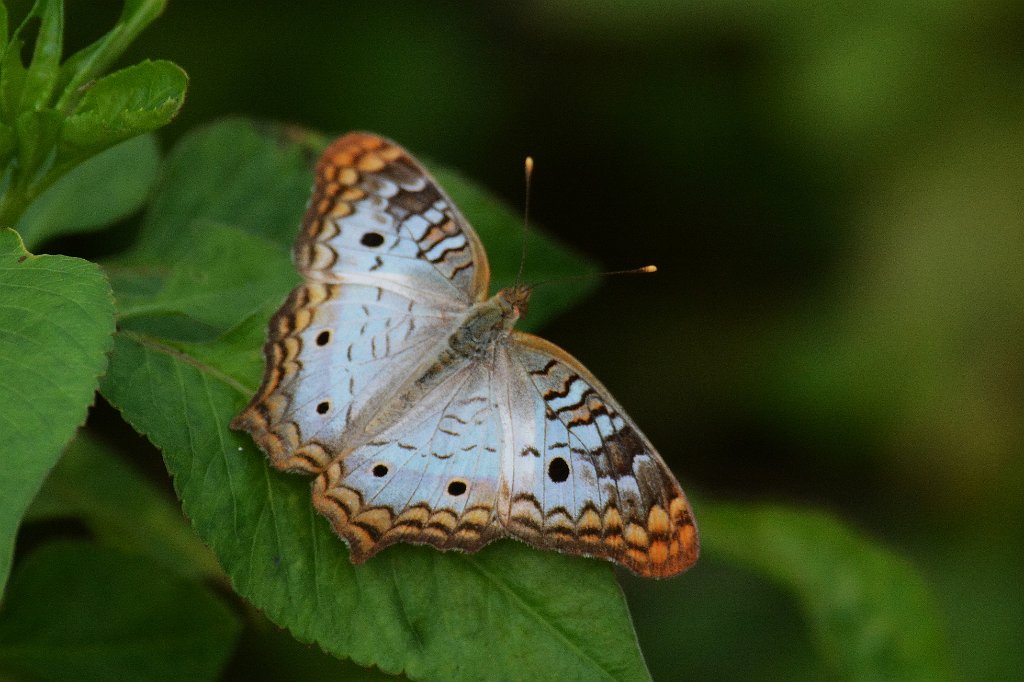
[[[366,440],[380,404],[456,324],[379,287],[302,285],[270,321],[263,383],[232,426],[274,466],[318,472]]]

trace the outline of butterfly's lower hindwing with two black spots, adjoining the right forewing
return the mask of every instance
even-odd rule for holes
[[[468,359],[393,426],[313,483],[313,505],[353,563],[397,542],[475,551],[503,535],[495,502],[501,423],[493,375]]]

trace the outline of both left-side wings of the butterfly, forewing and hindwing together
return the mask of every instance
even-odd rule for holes
[[[486,295],[472,227],[401,147],[332,143],[295,245],[305,282],[270,321],[262,385],[231,423],[281,469],[317,473]]]

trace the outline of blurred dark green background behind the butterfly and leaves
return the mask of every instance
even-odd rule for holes
[[[66,53],[120,8],[70,2]],[[369,129],[512,207],[532,155],[538,224],[659,268],[543,333],[697,518],[836,513],[928,578],[961,674],[1000,679],[1024,670],[1022,34],[1011,0],[171,0],[123,62],[188,73],[166,145],[229,114]],[[711,557],[625,586],[657,678],[815,671],[760,578]]]

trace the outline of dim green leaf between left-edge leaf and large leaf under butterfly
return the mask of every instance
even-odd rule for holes
[[[65,517],[79,518],[104,546],[183,578],[223,577],[178,505],[86,429],[68,445],[25,521]]]

